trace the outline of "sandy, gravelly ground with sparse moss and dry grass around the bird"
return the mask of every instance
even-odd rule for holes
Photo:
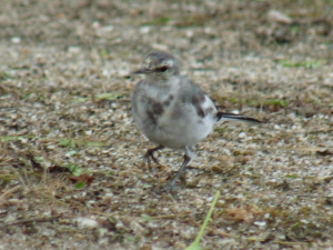
[[[11,0],[0,8],[0,249],[333,248],[333,2]],[[134,127],[132,71],[175,54],[223,123],[182,152]]]

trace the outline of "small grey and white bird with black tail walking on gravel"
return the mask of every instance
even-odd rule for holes
[[[148,149],[144,158],[159,163],[154,152],[163,148],[184,150],[183,162],[176,174],[164,187],[170,192],[180,174],[194,158],[193,146],[206,138],[221,121],[262,121],[242,114],[218,111],[212,99],[193,81],[180,74],[176,58],[164,51],[149,53],[142,67],[133,72],[144,78],[133,88],[131,110],[137,128],[155,148]]]

